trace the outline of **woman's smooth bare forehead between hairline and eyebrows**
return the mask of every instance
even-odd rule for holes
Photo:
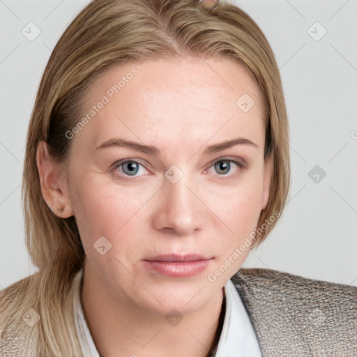
[[[79,136],[96,146],[112,137],[176,143],[176,150],[213,137],[264,141],[259,89],[230,59],[148,59],[114,67],[91,84],[81,114],[91,120]]]

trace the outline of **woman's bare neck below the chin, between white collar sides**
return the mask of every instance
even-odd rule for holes
[[[169,324],[162,314],[113,296],[91,264],[84,269],[81,297],[93,342],[103,357],[210,356],[225,314],[221,289],[200,310],[184,314],[178,324]]]

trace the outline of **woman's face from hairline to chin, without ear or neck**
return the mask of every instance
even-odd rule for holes
[[[220,294],[268,199],[262,109],[228,59],[149,59],[91,84],[67,182],[98,289],[159,313]]]

